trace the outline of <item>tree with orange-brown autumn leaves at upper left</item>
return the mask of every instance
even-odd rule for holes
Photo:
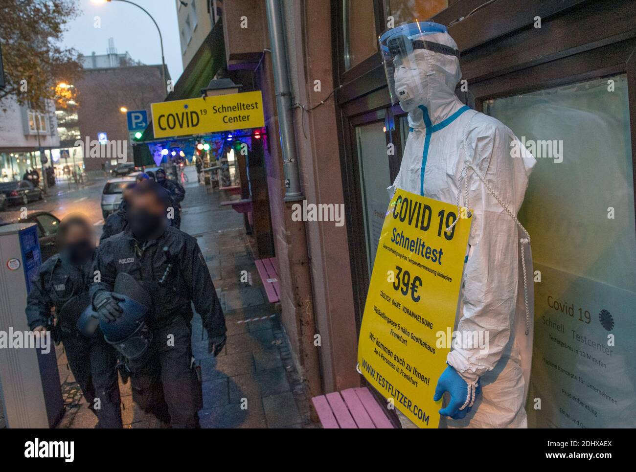
[[[9,96],[21,105],[43,111],[46,99],[59,97],[60,82],[74,83],[81,75],[79,53],[61,44],[66,25],[79,14],[78,0],[0,0],[0,47]]]

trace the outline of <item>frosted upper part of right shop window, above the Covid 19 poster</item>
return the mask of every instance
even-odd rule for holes
[[[519,212],[533,261],[563,279],[636,293],[626,75],[495,99],[484,109],[537,159]]]

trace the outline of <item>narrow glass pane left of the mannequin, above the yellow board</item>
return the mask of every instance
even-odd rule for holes
[[[356,127],[356,143],[364,207],[366,256],[371,274],[384,217],[389,207],[387,187],[391,186],[384,122]]]

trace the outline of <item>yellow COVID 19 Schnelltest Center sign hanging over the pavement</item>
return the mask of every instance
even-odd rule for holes
[[[206,134],[265,126],[260,90],[151,104],[155,137]]]

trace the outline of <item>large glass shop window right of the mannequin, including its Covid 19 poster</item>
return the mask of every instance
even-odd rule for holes
[[[537,160],[519,219],[530,233],[534,266],[529,405],[539,395],[547,401],[540,414],[527,408],[528,424],[619,424],[621,401],[633,398],[636,329],[626,74],[495,99],[485,109]],[[599,349],[614,346],[614,335],[616,349]],[[567,399],[569,392],[578,404]],[[550,400],[564,393],[563,403]]]

